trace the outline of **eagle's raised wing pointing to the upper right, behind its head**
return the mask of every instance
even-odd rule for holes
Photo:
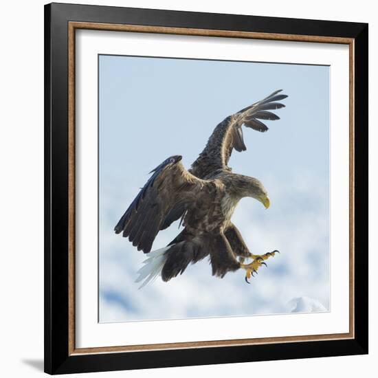
[[[214,129],[203,151],[197,160],[192,164],[190,172],[201,179],[219,169],[227,169],[228,161],[232,150],[245,151],[243,140],[243,124],[256,131],[265,132],[267,126],[260,120],[279,120],[278,115],[269,110],[276,110],[285,107],[280,100],[287,98],[287,95],[278,94],[282,91],[275,91],[271,95],[252,104],[249,107],[229,115]]]

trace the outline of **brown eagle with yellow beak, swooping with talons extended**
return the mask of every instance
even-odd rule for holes
[[[271,110],[285,107],[282,89],[263,100],[229,115],[219,123],[199,157],[187,170],[181,155],[168,157],[153,169],[120,221],[115,233],[121,234],[148,254],[138,271],[142,286],[161,276],[168,281],[184,273],[190,263],[210,256],[212,275],[223,278],[227,272],[245,270],[245,281],[257,273],[267,258],[278,250],[255,255],[249,249],[231,217],[238,202],[252,197],[265,208],[270,201],[263,184],[254,177],[239,175],[228,166],[232,151],[245,151],[242,126],[265,133],[262,120],[279,120]],[[181,219],[184,229],[166,247],[151,252],[160,230]],[[245,259],[252,261],[246,263]]]

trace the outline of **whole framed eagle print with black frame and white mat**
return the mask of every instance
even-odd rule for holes
[[[45,371],[368,353],[367,99],[364,23],[45,5]]]

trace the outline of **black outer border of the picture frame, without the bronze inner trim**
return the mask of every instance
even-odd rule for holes
[[[129,351],[69,353],[69,21],[352,38],[354,44],[354,337]],[[368,353],[368,25],[98,5],[45,5],[45,372],[84,373]]]

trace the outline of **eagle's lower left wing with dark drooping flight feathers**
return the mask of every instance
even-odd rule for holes
[[[204,186],[212,190],[212,184],[194,177],[180,160],[181,156],[168,157],[151,171],[153,175],[114,228],[144,253],[151,251],[159,230],[177,219],[175,214],[193,205]]]

